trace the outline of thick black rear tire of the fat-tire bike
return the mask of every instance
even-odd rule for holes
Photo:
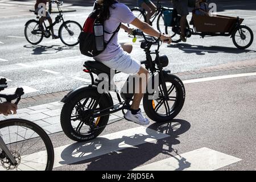
[[[99,95],[100,94],[97,92],[97,90],[88,89],[86,90],[86,92],[81,92],[77,94],[75,97],[71,99],[71,101],[66,102],[63,105],[63,108],[61,109],[61,114],[60,114],[60,123],[65,135],[67,135],[68,138],[77,142],[85,142],[88,140],[92,140],[93,138],[96,138],[105,129],[105,127],[101,127],[100,129],[92,131],[92,133],[88,135],[82,135],[77,133],[76,130],[73,129],[72,123],[71,123],[72,121],[70,119],[72,110],[76,106],[77,102],[81,101],[83,98],[88,98],[88,97],[97,98],[99,97]],[[100,108],[103,110],[109,107],[109,101],[106,100],[106,97],[102,97],[99,105],[100,105]],[[109,111],[109,110],[105,110],[105,111]],[[107,125],[108,121],[109,121],[109,115],[104,115],[100,118],[98,126]]]

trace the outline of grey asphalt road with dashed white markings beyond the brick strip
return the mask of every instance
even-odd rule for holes
[[[0,1],[0,59],[1,61],[0,76],[9,80],[9,86],[30,86],[38,90],[27,94],[35,96],[38,94],[58,92],[77,88],[88,82],[77,80],[79,78],[89,78],[89,75],[82,72],[82,64],[88,57],[82,56],[79,47],[64,46],[59,40],[43,39],[39,45],[33,46],[24,38],[24,24],[35,16],[28,12],[31,5],[15,5],[15,2]],[[28,2],[30,3],[30,2]],[[65,13],[65,20],[76,20],[80,24],[84,23],[92,7],[86,6],[69,6],[69,9],[75,8],[77,11]],[[245,18],[245,24],[253,32],[255,26],[255,11],[251,7],[255,2],[236,3],[230,7],[229,3],[221,2],[220,14],[237,16]],[[232,10],[230,10],[232,8]],[[222,10],[223,9],[223,10]],[[224,10],[225,9],[225,10]],[[52,14],[56,16],[56,14]],[[189,19],[190,17],[188,17]],[[58,24],[55,31],[58,30]],[[119,33],[120,42],[130,42],[131,38],[122,30]],[[137,43],[133,44],[134,49],[131,55],[139,60],[144,60],[144,52],[139,48],[139,38]],[[160,53],[166,54],[170,60],[168,68],[172,72],[194,71],[200,68],[212,65],[230,63],[254,59],[256,57],[256,43],[246,50],[240,50],[234,47],[232,39],[226,37],[214,37],[201,39],[199,36],[192,36],[186,43],[163,44]],[[53,73],[44,72],[43,70],[53,71]],[[57,73],[55,73],[57,72]],[[117,77],[124,79],[126,75]]]

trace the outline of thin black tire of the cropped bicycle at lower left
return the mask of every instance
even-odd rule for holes
[[[44,144],[46,145],[47,150],[47,164],[46,171],[51,171],[54,164],[54,150],[52,146],[51,139],[47,135],[46,131],[44,131],[40,126],[36,125],[31,121],[27,121],[25,119],[6,119],[0,122],[0,129],[8,126],[25,126],[29,127],[29,129],[35,131],[36,134],[42,138]]]

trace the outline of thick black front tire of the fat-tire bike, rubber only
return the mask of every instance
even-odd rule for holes
[[[175,88],[177,89],[177,103],[175,104],[175,109],[172,111],[172,113],[168,116],[162,116],[155,112],[152,106],[152,100],[148,100],[148,93],[144,94],[143,97],[143,107],[144,111],[147,114],[147,116],[152,119],[152,121],[155,122],[166,122],[170,121],[171,119],[174,119],[177,114],[180,113],[180,110],[182,109],[184,102],[185,102],[185,87],[183,82],[180,80],[179,77],[172,75],[171,73],[168,73],[164,77],[166,82],[171,82],[175,85]]]

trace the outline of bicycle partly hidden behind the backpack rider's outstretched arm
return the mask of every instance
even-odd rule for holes
[[[162,33],[165,32],[165,26],[164,26],[164,15],[163,15],[163,11],[169,10],[169,7],[164,7],[160,4],[160,1],[157,2],[156,5],[156,12],[154,15],[152,15],[152,17],[150,18],[150,23],[153,23],[156,20],[156,27],[158,28],[158,30]],[[142,20],[142,22],[146,22],[146,10],[142,9],[141,7],[133,7],[131,8],[131,12],[133,12],[133,14],[140,20]],[[131,27],[130,24],[127,24],[129,27]]]

